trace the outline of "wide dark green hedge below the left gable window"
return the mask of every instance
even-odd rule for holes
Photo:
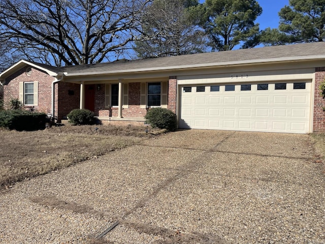
[[[17,131],[33,131],[45,128],[46,114],[25,110],[0,111],[0,127]]]

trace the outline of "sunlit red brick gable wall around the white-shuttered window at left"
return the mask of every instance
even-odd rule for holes
[[[52,110],[52,81],[54,77],[46,72],[31,68],[31,73],[26,74],[26,68],[17,71],[15,74],[6,78],[4,85],[4,108],[10,108],[11,99],[19,98],[19,82],[39,82],[38,88],[38,106],[25,106],[25,109],[32,109],[39,112],[48,113]]]

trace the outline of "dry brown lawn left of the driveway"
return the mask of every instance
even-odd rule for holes
[[[98,128],[98,130],[95,130]],[[163,131],[144,127],[62,126],[43,131],[0,130],[0,189],[87,159],[95,159]]]

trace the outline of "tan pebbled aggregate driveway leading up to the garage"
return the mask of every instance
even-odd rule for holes
[[[0,194],[0,242],[325,243],[315,157],[308,135],[169,133]]]

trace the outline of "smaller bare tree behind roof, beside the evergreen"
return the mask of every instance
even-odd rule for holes
[[[189,6],[195,5],[197,0],[154,0],[141,20],[145,35],[134,47],[138,57],[206,51],[205,33],[187,12]]]

